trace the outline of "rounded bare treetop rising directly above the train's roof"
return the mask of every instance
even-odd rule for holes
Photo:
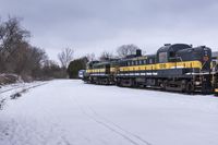
[[[117,53],[120,58],[125,58],[129,55],[135,55],[136,50],[140,49],[136,45],[122,45],[118,47]]]

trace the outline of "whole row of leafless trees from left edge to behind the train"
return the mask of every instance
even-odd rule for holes
[[[93,60],[107,61],[135,53],[137,46],[122,45],[117,53],[104,51],[98,58],[88,53],[73,59],[74,50],[63,49],[58,53],[58,62],[50,60],[45,49],[31,45],[31,32],[21,25],[21,19],[0,19],[0,74],[17,74],[24,81],[77,77],[77,71],[84,70]]]

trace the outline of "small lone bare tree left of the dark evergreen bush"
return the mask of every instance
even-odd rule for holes
[[[62,52],[58,53],[58,59],[60,60],[63,69],[66,69],[69,63],[72,61],[73,53],[74,50],[71,48],[65,48],[64,50],[62,50]]]

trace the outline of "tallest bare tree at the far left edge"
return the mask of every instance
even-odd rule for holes
[[[10,17],[0,23],[0,71],[15,73],[17,63],[28,49],[31,33],[24,29],[17,17]]]

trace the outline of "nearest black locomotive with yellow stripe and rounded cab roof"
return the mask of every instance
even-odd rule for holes
[[[211,50],[207,47],[165,45],[156,55],[121,60],[117,83],[208,94],[211,92],[210,60]]]

